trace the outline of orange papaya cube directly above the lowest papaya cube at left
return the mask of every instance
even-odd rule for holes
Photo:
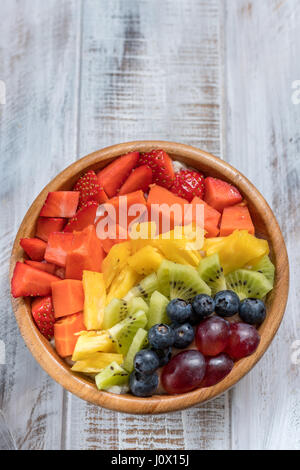
[[[65,317],[83,310],[84,292],[82,281],[63,279],[53,282],[51,287],[55,318]]]

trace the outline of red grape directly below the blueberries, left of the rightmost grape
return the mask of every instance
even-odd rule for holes
[[[196,345],[204,356],[217,356],[227,346],[230,323],[213,316],[204,320],[196,329]]]

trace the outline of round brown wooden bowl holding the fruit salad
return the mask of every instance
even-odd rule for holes
[[[135,150],[147,152],[153,148],[163,148],[173,159],[198,168],[207,175],[223,178],[239,188],[249,203],[257,235],[269,241],[270,256],[276,266],[276,279],[274,289],[267,299],[267,318],[259,328],[261,342],[252,356],[238,361],[231,373],[213,387],[180,395],[157,395],[151,398],[99,392],[91,381],[71,372],[68,365],[56,354],[50,343],[35,327],[31,317],[30,299],[12,298],[13,310],[21,334],[43,369],[78,397],[104,408],[125,413],[146,414],[181,410],[211,400],[228,390],[252,369],[268,348],[282,320],[288,297],[289,268],[285,243],[276,218],[262,195],[245,176],[219,158],[188,145],[160,141],[138,141],[113,145],[82,158],[56,176],[39,194],[23,219],[11,254],[10,277],[16,262],[23,260],[23,250],[19,245],[20,238],[34,236],[36,221],[49,191],[71,189],[78,177],[85,171],[99,170],[127,152]]]

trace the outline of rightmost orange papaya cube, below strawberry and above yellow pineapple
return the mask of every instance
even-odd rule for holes
[[[247,230],[254,235],[254,225],[247,206],[236,205],[223,210],[220,236],[226,237],[234,230]]]

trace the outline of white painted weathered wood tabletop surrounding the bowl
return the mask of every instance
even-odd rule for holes
[[[0,0],[0,407],[19,449],[300,449],[299,30],[298,0]],[[254,370],[210,403],[152,417],[90,405],[48,377],[8,285],[14,236],[43,186],[138,139],[236,166],[274,209],[291,261],[283,324]]]

